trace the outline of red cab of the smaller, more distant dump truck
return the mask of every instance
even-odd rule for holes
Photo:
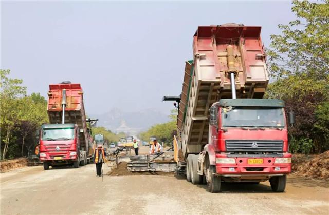
[[[46,124],[41,127],[40,160],[49,166],[72,164],[79,167],[79,128],[76,124]]]

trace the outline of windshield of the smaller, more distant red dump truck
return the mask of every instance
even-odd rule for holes
[[[74,140],[74,128],[46,128],[42,130],[41,140]]]

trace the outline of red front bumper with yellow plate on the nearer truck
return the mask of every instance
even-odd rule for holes
[[[227,177],[239,176],[274,176],[291,172],[291,163],[276,163],[277,158],[290,158],[291,154],[284,153],[283,157],[227,157],[226,154],[216,154],[217,158],[234,159],[233,164],[216,163],[216,174]],[[250,164],[250,160],[259,159],[259,164]],[[249,162],[248,162],[249,161]]]

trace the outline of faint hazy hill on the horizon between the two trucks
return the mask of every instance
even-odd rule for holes
[[[103,114],[91,114],[90,117],[99,119],[97,126],[103,126],[113,132],[117,132],[117,129],[126,128],[127,126],[128,128],[126,129],[136,134],[147,130],[154,124],[168,122],[170,120],[168,115],[151,108],[132,112],[112,108]]]

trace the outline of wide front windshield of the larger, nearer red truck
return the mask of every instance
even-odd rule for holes
[[[223,127],[284,127],[283,108],[228,107],[222,109]]]

